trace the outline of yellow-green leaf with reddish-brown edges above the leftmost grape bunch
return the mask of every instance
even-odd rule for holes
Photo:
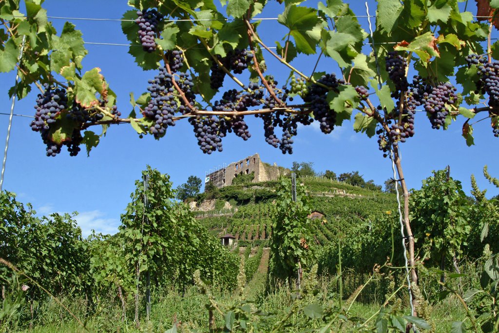
[[[75,79],[75,100],[83,107],[98,105],[96,93],[102,94],[107,88],[104,77],[100,74],[100,68],[95,67],[87,71],[80,79]]]

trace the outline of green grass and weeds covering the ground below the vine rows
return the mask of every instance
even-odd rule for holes
[[[266,257],[266,256],[264,256]],[[278,318],[284,317],[289,307],[292,305],[291,298],[295,292],[288,288],[279,288],[265,293],[266,268],[265,263],[260,265],[253,279],[248,282],[245,289],[245,298],[252,302],[253,307],[257,307],[262,313],[272,314],[273,319],[267,323],[260,323],[259,331],[269,332],[270,327]],[[319,293],[316,296],[307,296],[306,304],[337,304],[337,293],[335,290],[335,279],[320,278],[318,281]],[[221,308],[227,309],[224,305],[230,305],[235,300],[235,294],[214,289],[215,295]],[[35,321],[33,328],[29,329],[28,321],[19,321],[17,325],[7,328],[6,332],[26,332],[26,333],[80,333],[80,332],[165,332],[170,329],[175,320],[190,323],[193,328],[201,330],[208,327],[208,312],[205,308],[207,297],[198,292],[192,286],[186,289],[185,293],[176,289],[165,288],[153,293],[153,304],[151,308],[150,322],[146,323],[144,309],[141,309],[141,329],[136,329],[133,323],[133,298],[127,304],[127,317],[124,322],[120,320],[120,307],[117,303],[105,302],[97,306],[95,313],[86,318],[86,328],[81,328],[76,321],[72,320],[53,300],[37,305],[35,311]],[[69,304],[72,311],[82,320],[84,318],[84,300],[63,298],[64,304]],[[407,301],[397,299],[396,303],[401,305],[400,311],[409,314]],[[435,332],[450,332],[454,321],[464,320],[465,313],[459,302],[454,298],[448,298],[431,308],[431,318],[435,323]],[[26,312],[27,309],[23,309]],[[375,315],[380,310],[380,304],[355,302],[349,311],[349,318],[367,319]],[[25,314],[23,315],[26,319]],[[222,316],[216,314],[216,321],[219,325],[224,323]],[[376,316],[375,316],[376,318]],[[282,332],[298,333],[307,329],[317,328],[323,325],[320,320],[310,320],[304,316],[303,312],[293,315],[290,318],[290,327],[286,327]],[[23,326],[19,326],[22,323]],[[369,329],[374,329],[374,321],[368,323]],[[1,326],[0,326],[1,328]],[[352,324],[333,324],[333,332],[345,332],[353,329]],[[1,332],[1,329],[0,329]],[[201,331],[204,332],[204,331]]]

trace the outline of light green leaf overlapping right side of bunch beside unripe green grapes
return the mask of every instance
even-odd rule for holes
[[[326,101],[331,110],[336,111],[336,125],[341,126],[343,120],[351,118],[353,108],[357,107],[360,98],[351,85],[340,85],[338,90],[339,93],[333,90],[329,91]]]

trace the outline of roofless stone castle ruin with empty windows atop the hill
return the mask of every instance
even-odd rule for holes
[[[254,172],[252,182],[259,183],[268,180],[276,180],[281,175],[288,173],[289,170],[279,167],[275,163],[274,165],[270,165],[262,162],[260,160],[260,155],[256,153],[240,161],[233,162],[225,168],[207,174],[205,177],[205,187],[210,181],[218,188],[229,186],[232,185],[232,181],[236,176],[241,174],[249,175],[252,172]]]

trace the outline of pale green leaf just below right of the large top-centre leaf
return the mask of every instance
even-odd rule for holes
[[[331,58],[338,62],[340,67],[350,65],[358,52],[353,49],[357,39],[349,33],[324,31],[323,34],[323,51]]]

